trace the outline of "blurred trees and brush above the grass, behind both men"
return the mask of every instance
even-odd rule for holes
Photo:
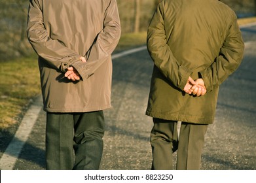
[[[159,0],[117,0],[122,33],[146,31]],[[256,0],[222,0],[239,18],[253,16]],[[28,0],[0,1],[0,61],[29,56],[33,50],[27,42],[26,21]]]

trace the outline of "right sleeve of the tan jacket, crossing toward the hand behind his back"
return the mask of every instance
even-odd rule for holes
[[[77,62],[72,65],[83,79],[94,75],[100,65],[111,57],[120,39],[121,27],[116,0],[109,1],[104,16],[103,29],[86,52],[86,64]]]

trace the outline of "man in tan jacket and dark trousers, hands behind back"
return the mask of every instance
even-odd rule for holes
[[[27,36],[39,55],[46,169],[99,169],[120,38],[116,1],[30,0]]]

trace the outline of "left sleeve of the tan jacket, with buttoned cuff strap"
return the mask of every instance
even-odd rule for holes
[[[41,0],[29,1],[27,37],[35,52],[54,69],[60,69],[62,72],[81,57],[77,52],[48,36],[43,22]]]

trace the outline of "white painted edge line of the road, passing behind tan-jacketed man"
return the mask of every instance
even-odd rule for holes
[[[127,50],[124,52],[120,52],[119,54],[114,54],[112,59],[117,59],[122,56],[127,56],[129,54],[134,54],[136,52],[140,52],[141,50],[147,49],[147,46],[141,46],[139,48],[134,48],[131,50]],[[38,97],[35,103],[29,107],[27,110],[18,130],[16,131],[14,138],[10,142],[9,146],[5,150],[5,153],[0,159],[0,170],[12,170],[19,155],[22,151],[24,144],[26,143],[35,122],[37,121],[39,112],[42,109],[42,101],[41,97]]]

